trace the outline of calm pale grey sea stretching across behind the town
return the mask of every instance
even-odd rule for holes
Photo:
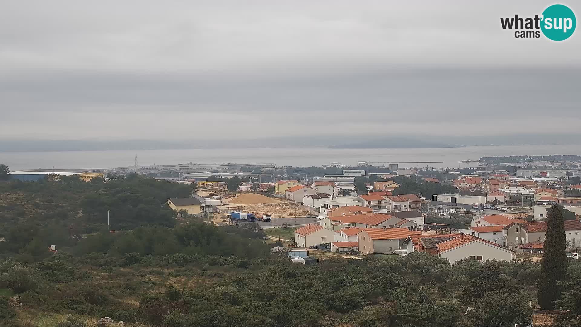
[[[329,148],[235,148],[187,150],[114,150],[0,152],[0,163],[10,170],[117,168],[133,165],[175,165],[177,163],[275,163],[278,166],[321,166],[331,162],[357,165],[357,161],[442,163],[401,163],[400,167],[464,168],[475,163],[459,161],[508,155],[581,154],[579,145],[472,146],[466,148],[419,149],[329,149]],[[376,164],[379,165],[379,164]]]

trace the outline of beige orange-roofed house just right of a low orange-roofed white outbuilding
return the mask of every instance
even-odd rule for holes
[[[372,228],[361,230],[359,237],[359,251],[361,253],[391,253],[401,250],[403,242],[410,235],[421,234],[407,228]]]

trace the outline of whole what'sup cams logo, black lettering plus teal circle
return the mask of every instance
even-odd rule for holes
[[[503,30],[515,30],[515,38],[540,38],[541,32],[549,40],[563,41],[571,37],[577,26],[575,13],[565,5],[552,5],[535,17],[501,18]]]

